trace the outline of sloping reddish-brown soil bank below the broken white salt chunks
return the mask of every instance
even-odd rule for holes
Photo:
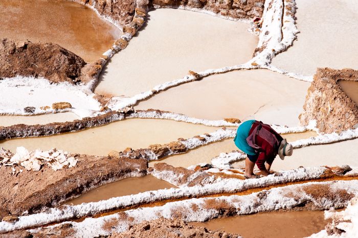
[[[52,207],[130,173],[144,175],[147,169],[145,160],[88,155],[76,155],[76,158],[79,162],[75,167],[58,171],[43,166],[40,171],[24,170],[10,175],[10,167],[1,167],[0,218]]]

